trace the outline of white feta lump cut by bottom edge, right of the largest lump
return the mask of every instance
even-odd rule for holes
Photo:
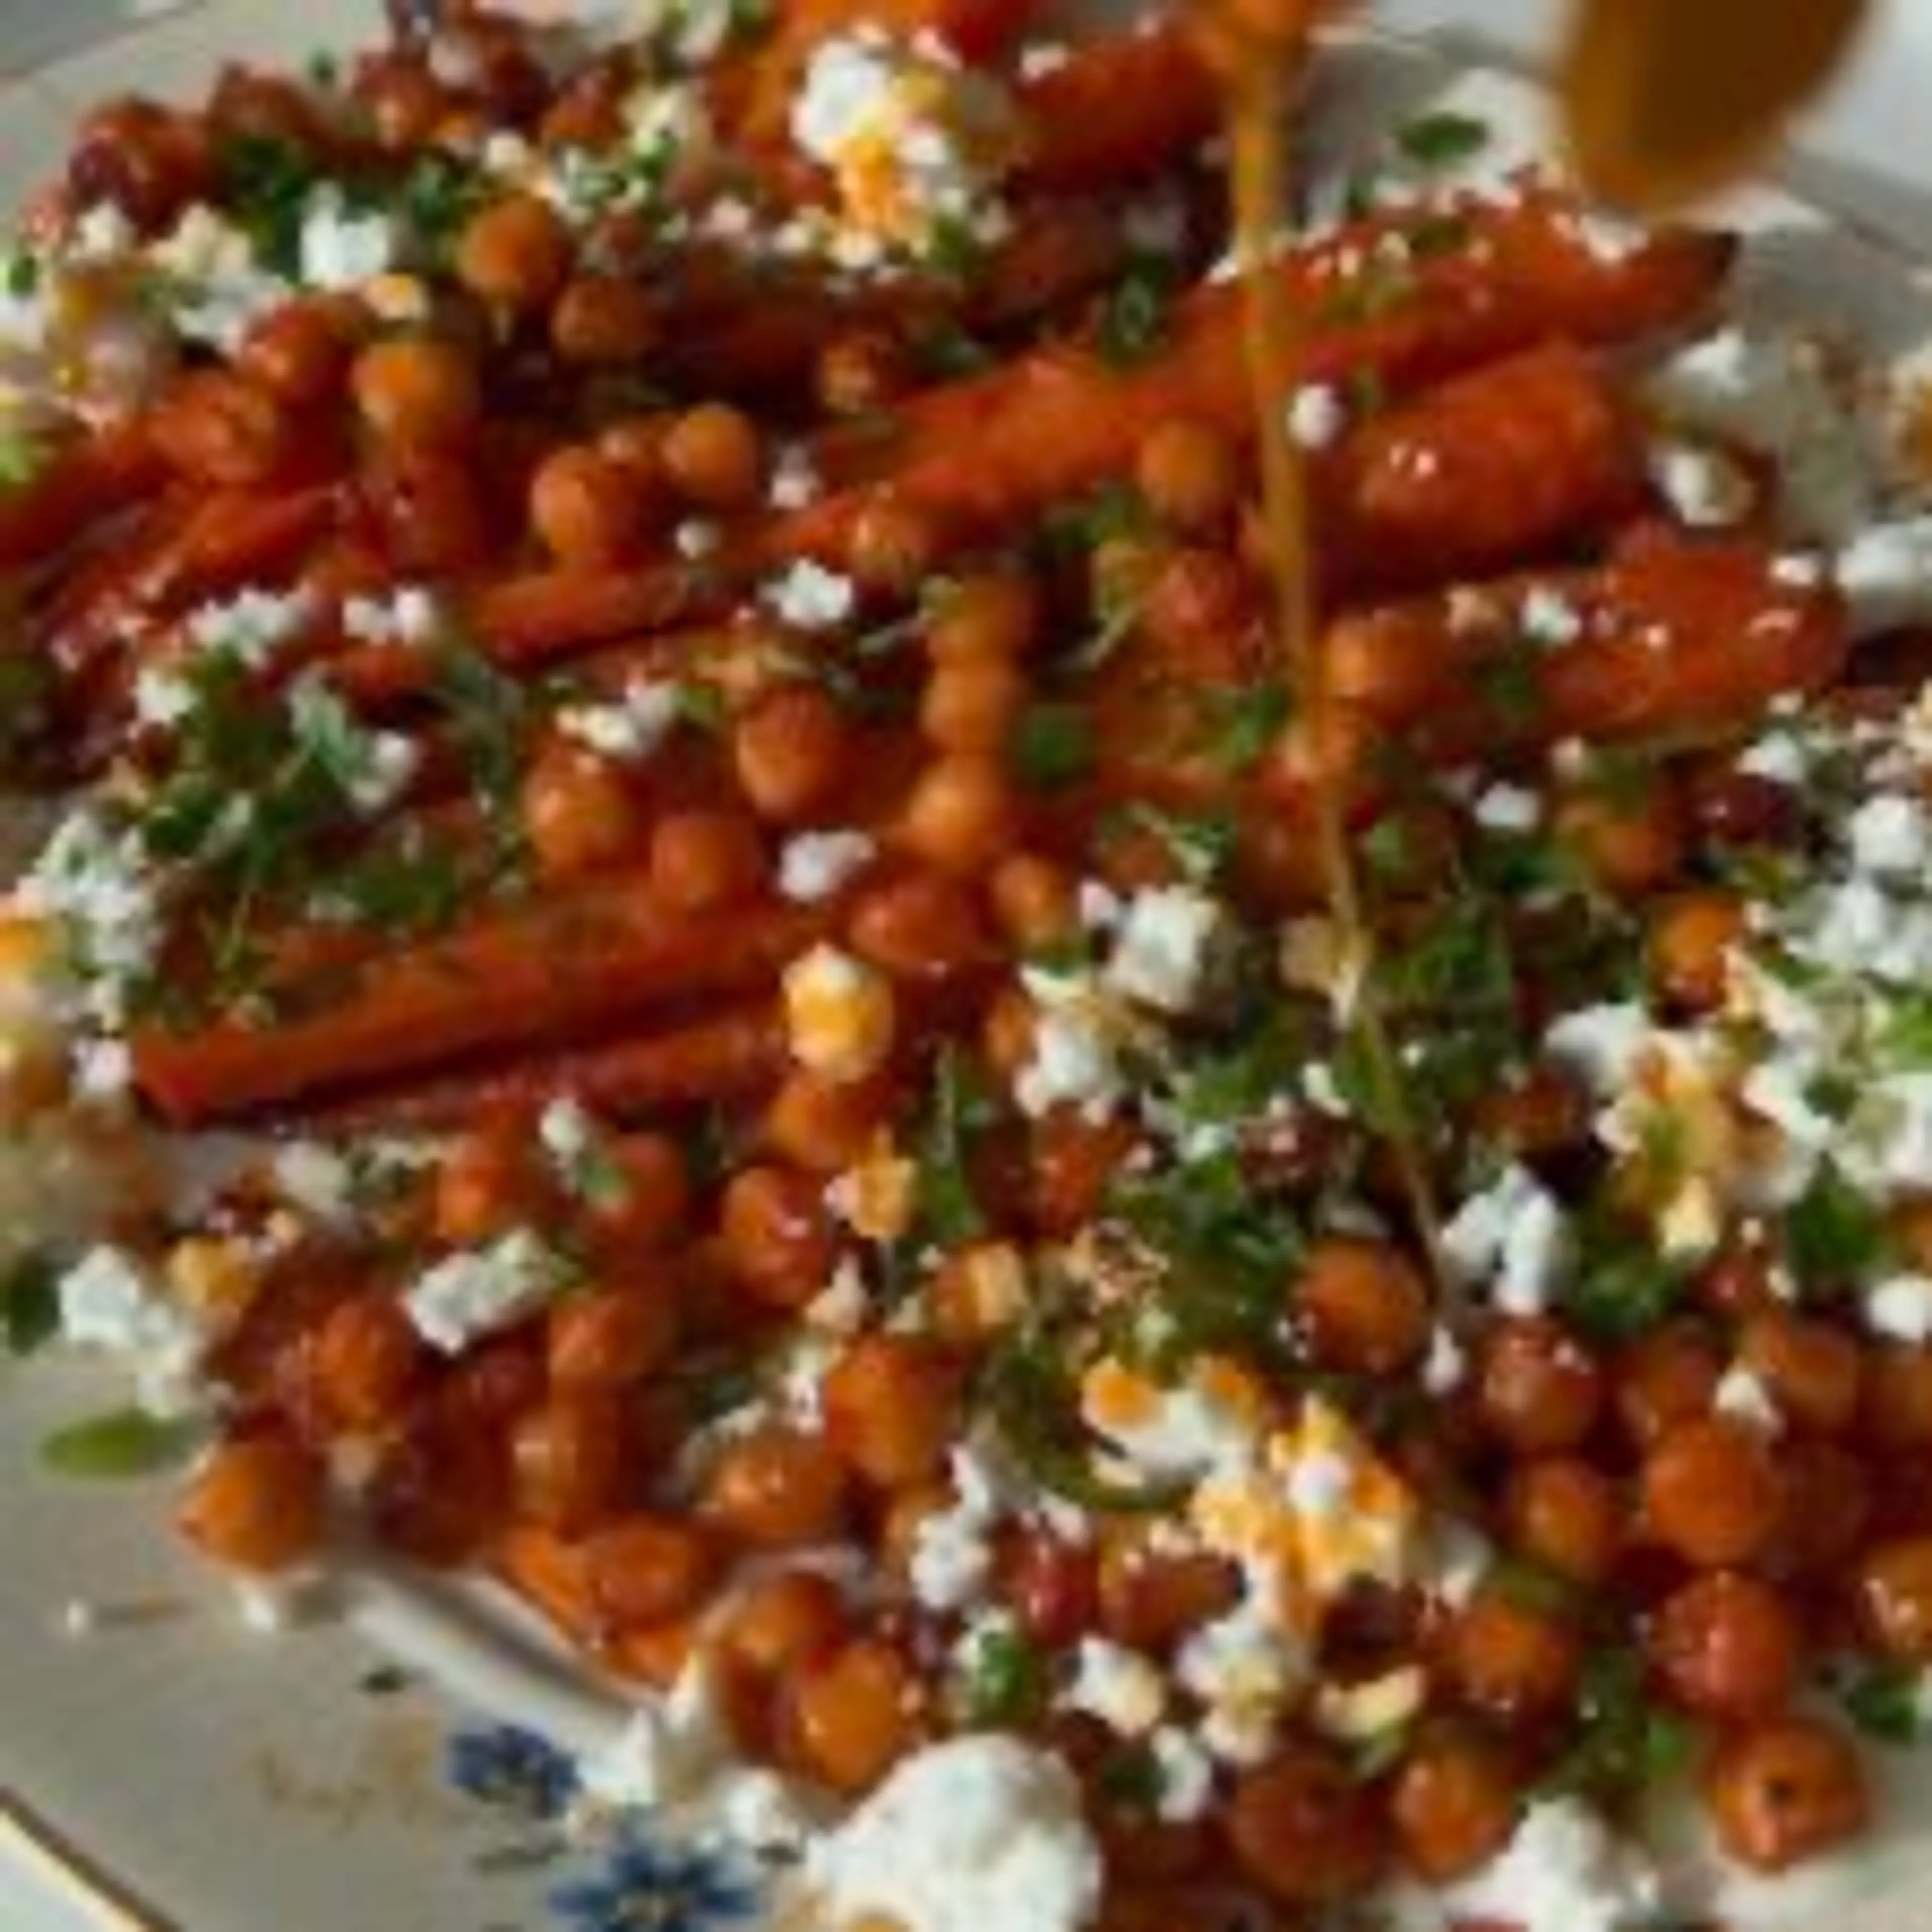
[[[1507,1851],[1449,1891],[1457,1920],[1520,1932],[1640,1932],[1663,1911],[1648,1857],[1577,1799],[1530,1804]]]

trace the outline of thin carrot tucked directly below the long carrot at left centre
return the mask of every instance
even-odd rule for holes
[[[493,1107],[529,1113],[570,1095],[628,1119],[742,1099],[767,1088],[782,1066],[784,1030],[777,1010],[748,1001],[595,1047],[512,1057],[473,1072],[379,1088],[303,1117],[330,1132],[425,1132],[479,1119]]]

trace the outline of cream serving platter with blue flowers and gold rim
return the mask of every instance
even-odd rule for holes
[[[296,62],[352,44],[375,0],[209,0],[174,8],[0,10],[0,193],[19,201],[93,100],[187,93],[222,58]],[[1542,143],[1526,0],[1383,10],[1320,106],[1345,149],[1455,85],[1524,149]],[[1488,62],[1466,70],[1470,58]],[[1754,232],[1752,299],[1837,319],[1889,350],[1932,336],[1909,269],[1932,247],[1932,129],[1913,85],[1932,25],[1888,15],[1812,135],[1793,193],[1727,211]],[[0,1155],[4,1157],[4,1155]],[[564,1754],[595,1752],[622,1704],[481,1592],[357,1565],[278,1598],[242,1598],[182,1553],[166,1493],[41,1472],[35,1447],[99,1389],[79,1370],[0,1366],[0,1928],[342,1932],[724,1932],[757,1924],[750,1874],[647,1832],[566,1851]],[[1747,1889],[1741,1932],[1932,1926],[1932,1776],[1901,1758],[1895,1828],[1855,1862]],[[1924,1828],[1915,1832],[1913,1818]],[[647,1917],[655,1911],[657,1917]]]

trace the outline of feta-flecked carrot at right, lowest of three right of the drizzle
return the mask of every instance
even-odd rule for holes
[[[1845,668],[1835,591],[1754,545],[1650,545],[1596,572],[1520,578],[1341,618],[1337,705],[1428,748],[1702,736]]]

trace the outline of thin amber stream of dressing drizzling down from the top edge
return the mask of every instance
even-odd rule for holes
[[[1350,819],[1350,761],[1331,755],[1339,734],[1320,639],[1316,558],[1310,535],[1308,469],[1289,435],[1296,386],[1298,321],[1281,274],[1277,236],[1293,187],[1293,102],[1312,44],[1316,0],[1202,0],[1204,43],[1225,93],[1240,269],[1244,346],[1262,471],[1262,514],[1277,597],[1277,643],[1294,730],[1308,757],[1316,856],[1335,933],[1335,1009],[1356,1047],[1387,1134],[1408,1211],[1437,1287],[1441,1215],[1416,1113],[1376,989],[1376,935],[1368,918]],[[1267,17],[1260,17],[1267,15]]]

